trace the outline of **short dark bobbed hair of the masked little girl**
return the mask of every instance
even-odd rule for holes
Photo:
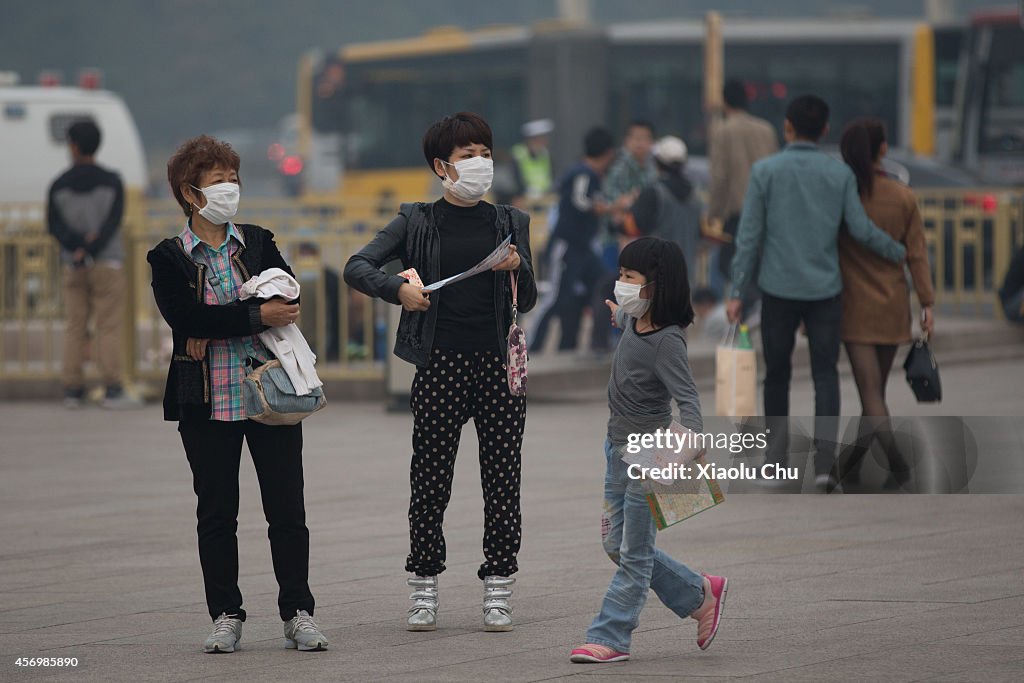
[[[693,322],[690,279],[683,250],[675,242],[660,238],[640,238],[626,245],[618,265],[636,270],[654,283],[650,322],[656,327],[688,327]]]

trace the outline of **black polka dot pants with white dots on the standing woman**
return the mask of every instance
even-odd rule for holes
[[[413,467],[409,502],[410,553],[406,570],[444,571],[444,509],[452,498],[455,457],[463,426],[473,419],[480,442],[483,486],[483,564],[477,575],[518,570],[522,538],[519,480],[525,396],[509,393],[496,351],[434,349],[413,380]]]

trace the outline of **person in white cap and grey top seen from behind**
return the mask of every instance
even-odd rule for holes
[[[667,135],[654,143],[652,157],[657,179],[645,187],[630,208],[628,237],[652,234],[675,242],[683,250],[690,288],[696,283],[696,257],[700,244],[700,201],[686,177],[686,143]]]

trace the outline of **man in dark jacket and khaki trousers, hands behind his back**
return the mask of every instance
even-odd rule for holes
[[[72,124],[68,129],[72,167],[47,194],[46,223],[60,244],[63,264],[63,389],[65,405],[71,409],[85,400],[87,349],[104,385],[101,405],[141,405],[124,390],[124,186],[117,173],[96,163],[100,141],[92,121]],[[91,343],[90,321],[96,333]]]

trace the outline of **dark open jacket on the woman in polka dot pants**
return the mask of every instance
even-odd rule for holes
[[[506,205],[495,208],[495,246],[512,234],[512,244],[518,248],[521,259],[519,310],[526,312],[537,303],[537,282],[534,280],[534,261],[529,251],[529,215]],[[398,275],[385,274],[381,270],[383,265],[398,260],[402,268],[416,268],[428,285],[440,280],[437,224],[443,220],[442,214],[439,201],[433,204],[402,204],[398,215],[370,244],[348,259],[345,283],[364,294],[400,305],[398,288],[408,281]],[[495,312],[498,338],[505,339],[512,323],[512,286],[508,278],[495,279]],[[425,367],[433,348],[436,323],[437,306],[432,305],[425,311],[403,309],[394,341],[394,354],[417,367]],[[504,344],[500,347],[505,356],[508,350]]]

